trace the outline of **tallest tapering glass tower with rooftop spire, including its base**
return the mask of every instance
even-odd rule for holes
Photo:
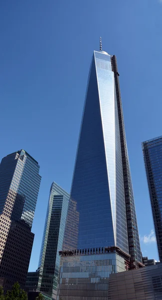
[[[110,273],[142,266],[119,72],[101,40],[90,67],[60,254],[62,300],[106,299]]]

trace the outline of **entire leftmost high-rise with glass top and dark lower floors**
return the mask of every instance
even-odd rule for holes
[[[0,163],[0,285],[25,286],[34,234],[31,226],[41,177],[38,162],[19,150]]]

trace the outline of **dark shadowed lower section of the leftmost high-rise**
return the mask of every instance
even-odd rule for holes
[[[24,224],[11,221],[5,238],[5,247],[0,258],[0,285],[3,286],[4,292],[11,289],[16,281],[25,288],[34,234]]]

